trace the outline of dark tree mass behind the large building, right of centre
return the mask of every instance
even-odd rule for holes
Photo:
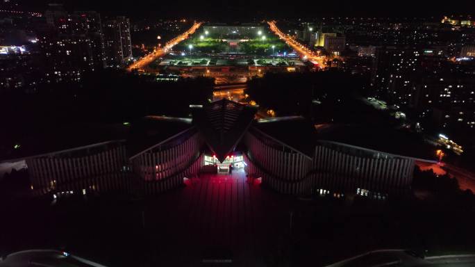
[[[276,115],[303,115],[316,123],[396,124],[361,101],[369,94],[364,77],[345,72],[266,74],[249,82],[248,94]]]

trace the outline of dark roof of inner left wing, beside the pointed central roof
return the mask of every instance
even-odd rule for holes
[[[128,156],[134,157],[192,128],[189,118],[147,116],[134,122],[127,138]]]

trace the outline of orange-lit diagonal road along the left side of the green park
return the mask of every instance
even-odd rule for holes
[[[201,22],[194,22],[193,26],[188,29],[188,31],[185,31],[181,35],[176,36],[176,38],[169,40],[169,42],[167,42],[165,46],[156,47],[156,49],[153,49],[153,52],[151,52],[147,56],[144,56],[143,58],[140,58],[139,60],[135,61],[135,63],[128,66],[127,71],[131,72],[133,70],[143,70],[144,67],[147,67],[147,65],[152,63],[154,60],[160,58],[160,56],[167,54],[176,44],[190,37],[190,35],[197,31],[200,26]]]

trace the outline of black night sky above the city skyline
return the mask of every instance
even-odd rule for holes
[[[3,1],[3,0],[0,0]],[[10,0],[15,1],[15,0]],[[439,16],[475,13],[474,0],[16,0],[42,11],[47,3],[65,3],[69,10],[97,10],[103,15],[140,17],[190,17],[194,19],[244,20],[251,17],[322,16]]]

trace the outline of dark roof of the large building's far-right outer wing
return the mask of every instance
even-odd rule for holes
[[[316,125],[317,140],[331,141],[379,152],[433,161],[434,149],[417,133],[352,124]]]

